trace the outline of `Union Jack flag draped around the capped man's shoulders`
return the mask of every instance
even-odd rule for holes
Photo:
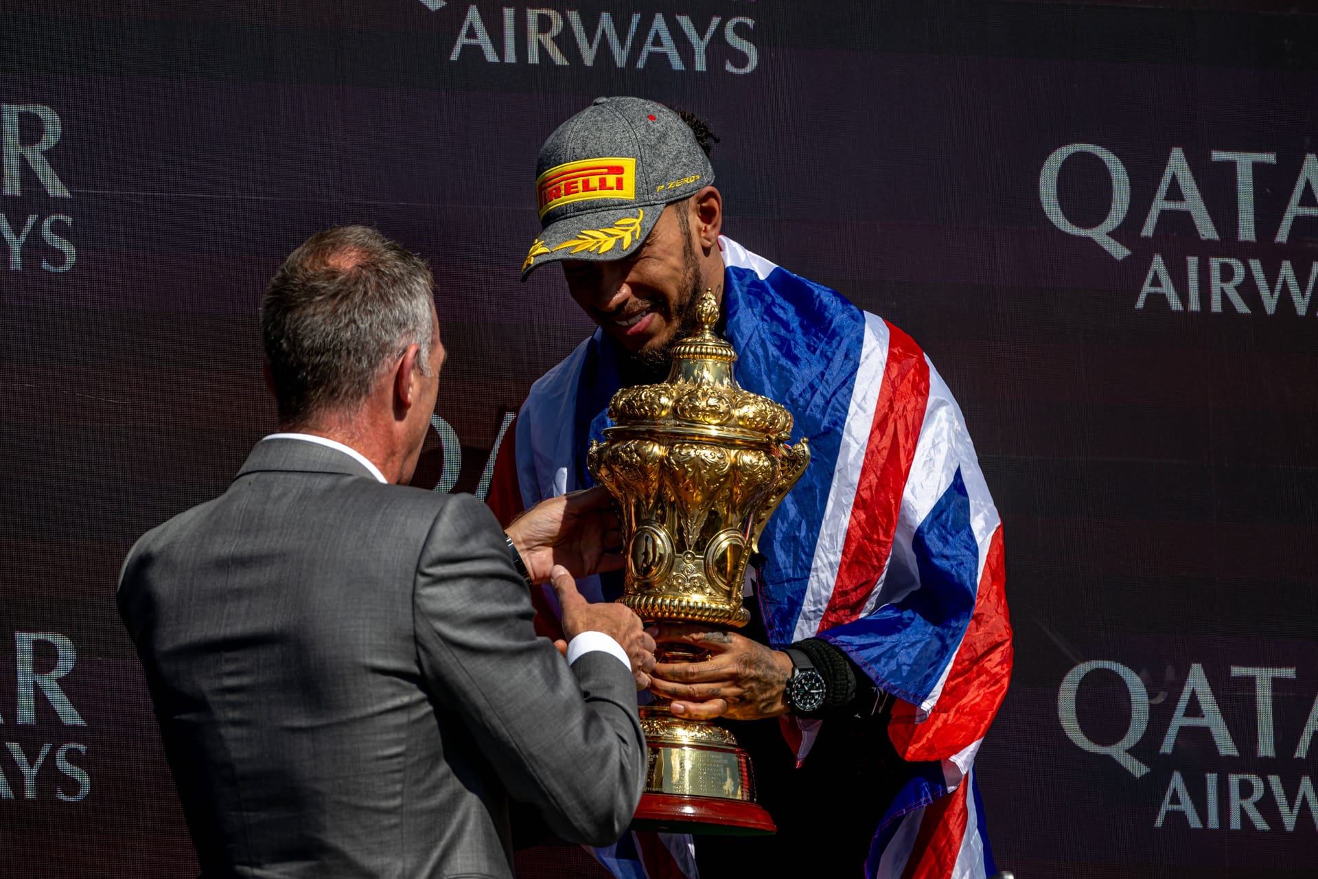
[[[888,735],[908,778],[857,871],[986,879],[995,867],[971,764],[1007,692],[1011,623],[1002,522],[961,409],[904,332],[729,239],[720,246],[737,378],[795,415],[792,443],[811,441],[805,474],[759,540],[771,646],[824,638],[899,700]],[[617,357],[596,331],[531,387],[497,453],[501,521],[590,485],[585,449],[609,424]],[[608,577],[579,585],[617,597]],[[552,590],[532,598],[540,631],[555,635]],[[818,726],[783,723],[797,760]],[[630,834],[597,857],[617,876],[695,876],[684,837]]]

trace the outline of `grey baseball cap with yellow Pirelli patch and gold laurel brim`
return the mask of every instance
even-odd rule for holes
[[[542,229],[522,281],[546,262],[634,254],[664,204],[714,182],[691,128],[642,98],[596,98],[544,141],[535,174]]]

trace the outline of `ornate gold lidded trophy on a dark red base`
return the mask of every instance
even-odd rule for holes
[[[809,464],[803,439],[787,445],[792,415],[733,378],[737,352],[714,333],[718,303],[701,294],[704,327],[672,353],[668,378],[623,387],[609,401],[613,427],[592,443],[590,474],[622,507],[626,585],[621,601],[646,622],[737,629],[750,553],[774,509]],[[700,662],[706,651],[660,644],[659,662]],[[776,830],[755,803],[750,759],[709,721],[675,717],[667,700],[641,709],[650,762],[634,828],[684,833]]]

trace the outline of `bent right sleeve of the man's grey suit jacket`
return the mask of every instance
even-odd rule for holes
[[[535,805],[564,839],[609,845],[631,821],[645,780],[634,679],[598,651],[569,668],[536,637],[532,615],[494,515],[452,496],[416,568],[422,671],[514,799]]]

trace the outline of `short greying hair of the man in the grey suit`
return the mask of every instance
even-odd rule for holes
[[[361,403],[411,344],[430,374],[434,279],[419,256],[361,225],[316,232],[261,298],[281,427]]]

